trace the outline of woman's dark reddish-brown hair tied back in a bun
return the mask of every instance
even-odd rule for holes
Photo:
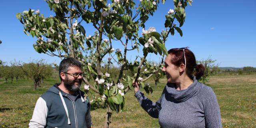
[[[175,66],[185,64],[185,72],[191,78],[193,75],[199,80],[204,75],[204,65],[196,64],[196,58],[193,52],[188,47],[186,48],[172,48],[168,51],[171,55],[171,62]],[[185,60],[186,58],[186,60]]]

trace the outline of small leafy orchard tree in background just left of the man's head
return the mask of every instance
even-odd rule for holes
[[[24,74],[34,81],[34,90],[40,86],[40,81],[44,78],[52,76],[53,68],[50,64],[46,64],[44,60],[30,62],[21,66]]]

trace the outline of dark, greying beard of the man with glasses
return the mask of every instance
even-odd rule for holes
[[[78,82],[79,84],[76,86],[75,82]],[[82,79],[69,80],[68,77],[66,77],[66,80],[64,80],[65,88],[72,92],[76,92],[77,90],[79,90],[81,84],[82,84]]]

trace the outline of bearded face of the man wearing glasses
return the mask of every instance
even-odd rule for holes
[[[69,70],[66,73],[69,74],[65,74],[66,78],[63,80],[65,88],[69,91],[76,92],[81,86],[82,76],[79,75],[76,78],[70,74],[80,74],[82,73],[82,70],[78,67],[69,67]]]

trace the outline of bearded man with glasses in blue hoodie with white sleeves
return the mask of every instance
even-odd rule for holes
[[[74,58],[60,62],[60,84],[37,100],[29,128],[91,128],[90,102],[79,90],[82,64]]]

